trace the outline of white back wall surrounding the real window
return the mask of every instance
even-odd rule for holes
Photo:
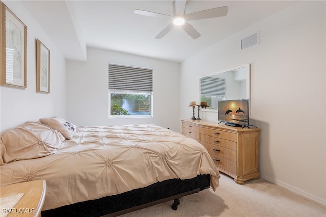
[[[108,64],[153,69],[153,118],[108,119]],[[179,131],[180,63],[87,48],[87,62],[67,61],[67,119],[77,125],[152,123]]]

